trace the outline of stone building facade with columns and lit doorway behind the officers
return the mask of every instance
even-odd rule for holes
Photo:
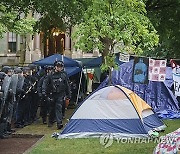
[[[71,57],[69,33],[56,33],[52,39],[43,41],[43,33],[17,35],[5,33],[0,39],[0,64],[28,64],[55,53]]]

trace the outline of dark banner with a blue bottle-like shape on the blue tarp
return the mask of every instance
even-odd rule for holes
[[[147,58],[135,57],[132,77],[134,83],[148,83],[148,64]]]

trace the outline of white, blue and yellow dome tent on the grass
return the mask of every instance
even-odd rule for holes
[[[148,137],[166,126],[131,90],[109,86],[91,94],[73,114],[59,138]]]

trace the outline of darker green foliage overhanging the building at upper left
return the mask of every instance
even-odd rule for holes
[[[52,28],[65,31],[80,21],[88,0],[2,0],[2,4],[18,12],[18,16],[27,15],[29,11],[38,13],[34,30],[48,33]]]

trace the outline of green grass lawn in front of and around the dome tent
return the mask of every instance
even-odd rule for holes
[[[72,111],[68,111],[72,113]],[[67,121],[64,121],[66,123]],[[165,120],[167,125],[165,132],[170,133],[180,127],[180,120]],[[53,132],[58,132],[56,127],[48,128],[40,123],[33,124],[19,130],[17,133],[23,134],[45,134],[44,138],[32,150],[31,154],[152,154],[157,143],[118,143],[113,141],[112,145],[105,148],[100,144],[99,138],[90,139],[62,139],[51,138]]]

